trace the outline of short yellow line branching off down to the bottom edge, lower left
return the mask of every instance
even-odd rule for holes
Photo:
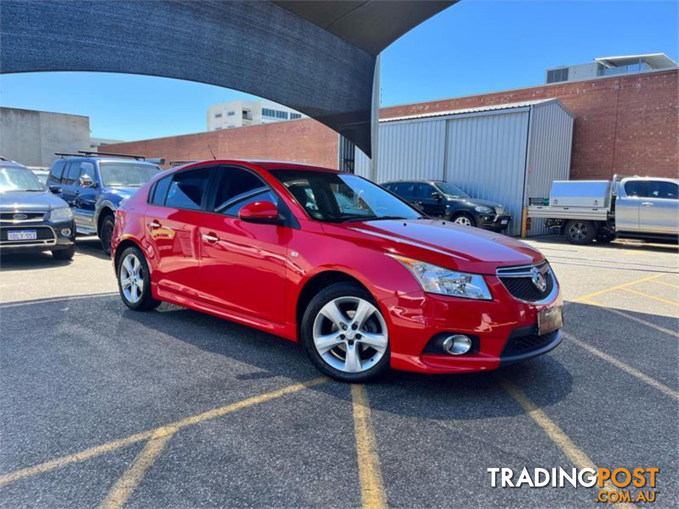
[[[134,489],[141,483],[146,471],[153,465],[155,458],[162,453],[170,438],[176,432],[177,428],[166,427],[159,428],[153,433],[150,440],[146,442],[144,449],[134,459],[134,463],[117,480],[109,495],[100,505],[101,509],[118,509],[126,504]]]

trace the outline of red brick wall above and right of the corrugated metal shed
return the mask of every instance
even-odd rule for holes
[[[570,178],[679,174],[679,71],[599,78],[382,108],[400,117],[559,98],[575,115]]]

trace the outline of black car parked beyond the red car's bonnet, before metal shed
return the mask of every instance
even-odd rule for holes
[[[500,204],[473,198],[454,184],[443,181],[398,181],[382,184],[392,193],[414,204],[431,217],[458,225],[502,231],[511,215]]]

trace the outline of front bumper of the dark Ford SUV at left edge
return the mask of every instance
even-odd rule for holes
[[[69,235],[63,230],[68,229]],[[7,233],[16,230],[35,230],[35,240],[8,240]],[[0,251],[5,252],[41,252],[68,249],[75,242],[75,221],[42,221],[41,223],[13,223],[0,226]]]

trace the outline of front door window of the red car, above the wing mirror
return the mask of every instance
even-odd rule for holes
[[[215,196],[215,212],[238,216],[243,206],[253,202],[278,203],[278,197],[254,173],[242,168],[225,168],[221,172]]]

